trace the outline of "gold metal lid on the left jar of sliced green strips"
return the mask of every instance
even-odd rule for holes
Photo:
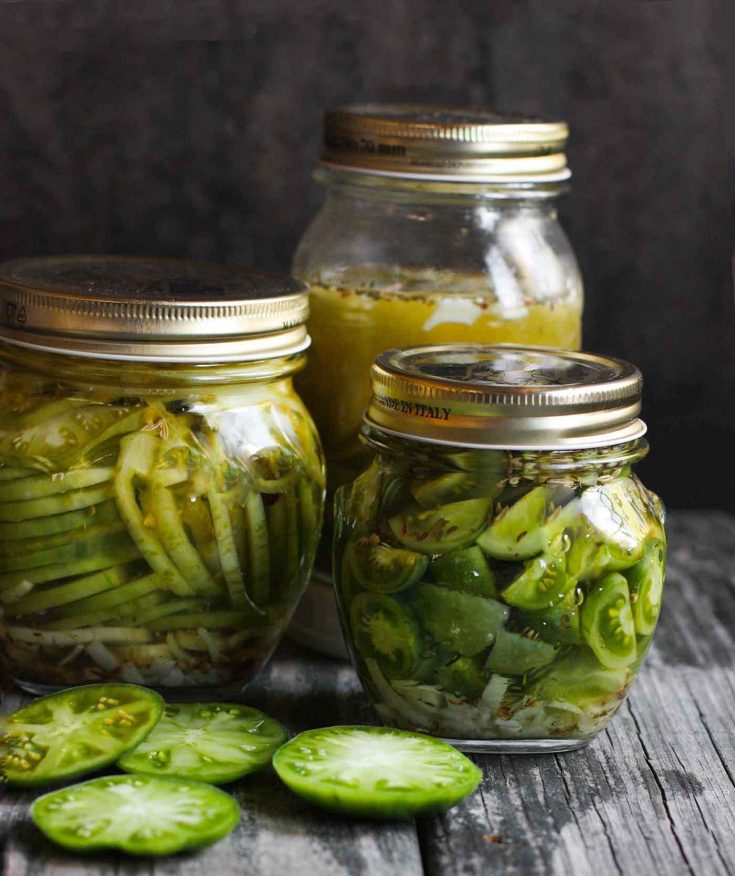
[[[289,277],[180,259],[50,256],[0,265],[0,339],[104,359],[232,362],[309,346]]]

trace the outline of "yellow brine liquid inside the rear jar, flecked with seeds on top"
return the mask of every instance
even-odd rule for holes
[[[359,433],[370,400],[370,366],[378,353],[413,344],[477,342],[578,349],[582,296],[575,289],[561,300],[500,302],[486,278],[428,272],[374,288],[364,281],[352,288],[312,282],[309,290],[312,347],[297,380],[327,459],[324,567],[331,550],[331,496],[360,474],[370,456]]]

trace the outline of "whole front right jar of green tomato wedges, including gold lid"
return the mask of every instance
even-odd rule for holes
[[[477,751],[605,727],[651,642],[666,555],[631,365],[514,346],[389,351],[336,504],[335,586],[390,725]]]

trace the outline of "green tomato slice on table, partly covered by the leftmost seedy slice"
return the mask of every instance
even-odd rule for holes
[[[234,703],[175,703],[117,765],[128,773],[219,785],[267,766],[288,739],[272,718]]]

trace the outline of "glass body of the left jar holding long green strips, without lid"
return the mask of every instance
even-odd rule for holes
[[[291,376],[303,358],[3,351],[0,657],[22,687],[242,691],[319,538],[321,448]]]

